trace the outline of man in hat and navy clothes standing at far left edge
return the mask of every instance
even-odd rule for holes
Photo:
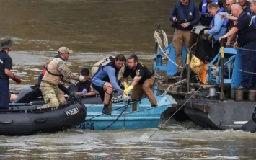
[[[17,84],[20,84],[22,80],[11,71],[12,58],[8,53],[12,50],[12,40],[10,38],[4,38],[0,43],[2,48],[0,52],[0,110],[9,110],[9,78],[14,80]]]

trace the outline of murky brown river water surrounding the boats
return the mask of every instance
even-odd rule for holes
[[[198,2],[198,1],[197,1]],[[45,61],[61,46],[71,71],[109,55],[138,55],[151,67],[154,31],[161,25],[172,40],[166,0],[1,0],[0,37],[15,43],[13,70],[21,85],[35,84]],[[162,120],[160,124],[163,124]],[[1,159],[256,159],[256,135],[204,130],[169,120],[160,130],[66,130],[53,134],[0,136]]]

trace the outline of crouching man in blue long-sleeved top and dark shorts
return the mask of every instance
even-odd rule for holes
[[[107,61],[100,64],[98,71],[92,77],[92,87],[99,92],[104,103],[103,114],[111,115],[112,102],[110,99],[114,89],[123,93],[118,85],[118,74],[123,65],[125,65],[124,55],[118,54],[115,58],[110,56]]]

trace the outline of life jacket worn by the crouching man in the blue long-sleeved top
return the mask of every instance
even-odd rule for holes
[[[114,56],[110,56],[109,58],[104,58],[96,64],[98,64],[98,66],[94,65],[94,67],[98,67],[97,72],[100,71],[100,69],[102,69],[105,66],[111,66],[112,68],[115,68],[115,76],[118,77],[120,69],[115,66],[115,57]],[[97,74],[97,72],[95,74]],[[110,78],[108,76],[105,76],[102,80],[110,81]]]

